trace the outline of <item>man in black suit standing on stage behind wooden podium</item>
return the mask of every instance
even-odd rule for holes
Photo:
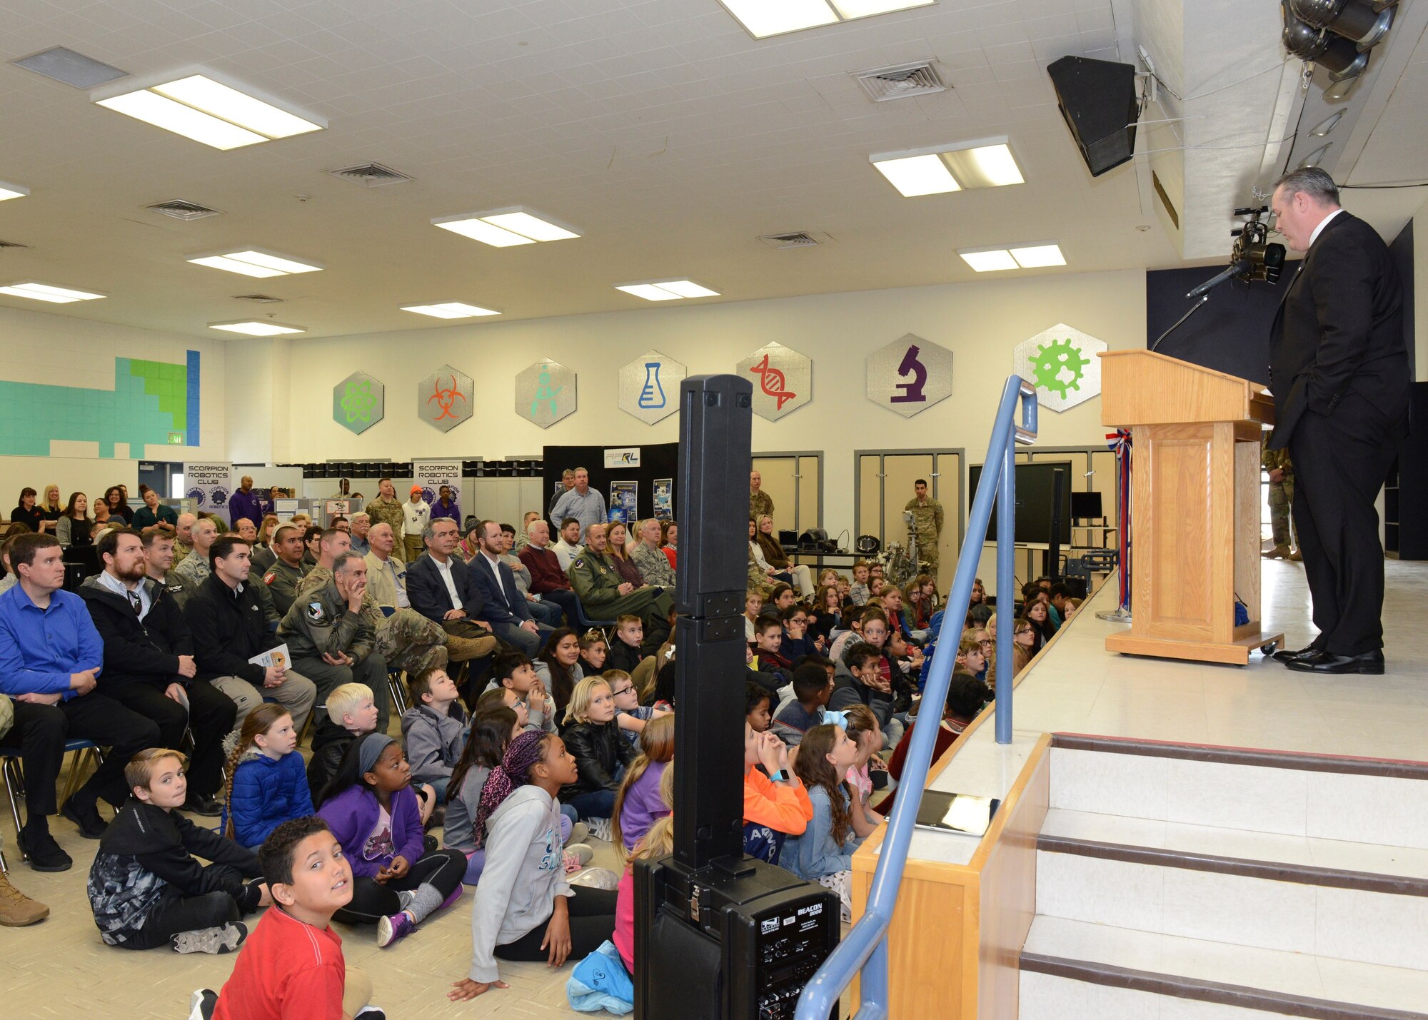
[[[1289,247],[1305,253],[1269,334],[1269,449],[1294,461],[1294,524],[1319,630],[1275,659],[1307,673],[1382,673],[1374,500],[1408,433],[1402,283],[1382,239],[1339,209],[1325,171],[1281,177],[1271,209]]]

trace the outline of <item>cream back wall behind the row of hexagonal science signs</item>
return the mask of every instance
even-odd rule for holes
[[[733,371],[740,359],[777,340],[813,359],[813,401],[780,421],[755,416],[754,450],[824,450],[824,524],[837,533],[853,527],[853,450],[964,446],[971,460],[981,459],[1002,383],[1012,370],[1012,349],[1058,321],[1112,349],[1144,346],[1144,271],[300,339],[286,343],[291,354],[290,429],[284,434],[274,426],[273,446],[286,447],[294,460],[321,461],[490,459],[537,453],[547,443],[673,441],[678,439],[678,416],[647,426],[617,407],[623,364],[657,349],[683,361],[691,374]],[[864,359],[904,333],[954,351],[952,396],[911,420],[865,397]],[[574,369],[580,390],[580,410],[545,430],[514,413],[513,377],[541,357]],[[473,419],[448,433],[417,417],[417,383],[444,363],[476,380]],[[384,420],[361,436],[331,417],[331,387],[357,369],[387,387]],[[283,407],[274,404],[277,419]],[[1100,411],[1100,399],[1064,414],[1042,411],[1041,441],[1104,443]]]

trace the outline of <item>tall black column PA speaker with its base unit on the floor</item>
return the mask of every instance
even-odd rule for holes
[[[793,1020],[838,944],[838,897],[744,857],[744,621],[753,390],[680,384],[674,853],[634,867],[635,1020]]]

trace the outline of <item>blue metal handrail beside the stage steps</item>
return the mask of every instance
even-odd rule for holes
[[[1021,424],[1014,424],[1018,399],[1021,401]],[[968,604],[972,581],[977,579],[977,564],[985,543],[987,523],[991,519],[992,497],[997,500],[997,596],[1005,600],[1008,611],[997,614],[997,743],[1011,743],[1011,679],[1012,670],[1012,624],[1011,603],[1015,600],[1015,544],[1012,520],[1017,506],[1017,443],[1037,440],[1037,390],[1021,376],[1007,379],[997,407],[997,421],[987,444],[987,466],[977,483],[971,516],[967,521],[967,537],[957,559],[957,576],[947,596],[944,627],[958,629],[958,611]],[[997,467],[994,469],[992,464]],[[931,676],[922,689],[922,703],[918,717],[938,720],[947,701],[947,689],[952,680],[957,641],[942,641],[942,654],[932,656]],[[938,726],[912,727],[908,737],[907,760],[902,764],[902,779],[898,789],[902,794],[892,804],[888,817],[887,837],[878,867],[873,873],[873,887],[868,893],[868,909],[848,931],[848,937],[824,960],[798,999],[795,1020],[828,1020],[838,1004],[843,990],[853,981],[854,973],[863,971],[863,1003],[854,1013],[854,1020],[883,1020],[888,1016],[888,926],[892,923],[892,907],[897,890],[902,883],[902,869],[907,866],[907,847],[912,841],[912,826],[917,809],[922,800],[922,786],[927,783],[927,769],[932,761],[932,747]],[[935,937],[928,933],[928,937]]]

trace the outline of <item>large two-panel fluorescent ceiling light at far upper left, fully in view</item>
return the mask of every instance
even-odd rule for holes
[[[97,101],[214,149],[240,149],[326,127],[203,74]]]

